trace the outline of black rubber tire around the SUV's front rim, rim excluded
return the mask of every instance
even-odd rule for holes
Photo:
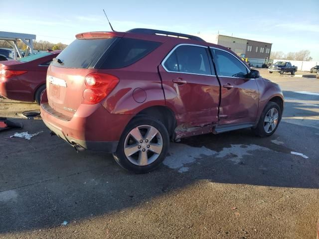
[[[264,128],[264,123],[265,123],[264,120],[265,120],[267,112],[271,110],[272,108],[276,108],[278,111],[278,123],[272,132],[267,133]],[[282,112],[280,110],[279,105],[275,102],[268,102],[263,113],[260,116],[257,126],[255,128],[252,128],[253,132],[255,133],[256,136],[259,136],[259,137],[267,137],[272,135],[278,128],[278,125],[281,121],[281,116],[282,116]]]

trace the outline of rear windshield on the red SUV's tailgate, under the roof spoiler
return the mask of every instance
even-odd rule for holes
[[[76,39],[58,55],[57,58],[62,64],[53,61],[52,65],[64,68],[93,68],[116,39]]]

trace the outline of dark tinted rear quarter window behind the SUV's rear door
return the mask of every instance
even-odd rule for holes
[[[100,69],[114,69],[129,66],[155,50],[160,42],[133,38],[122,38],[106,53]]]

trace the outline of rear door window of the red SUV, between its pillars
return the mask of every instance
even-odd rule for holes
[[[177,47],[165,60],[167,71],[200,75],[211,75],[205,47],[182,45]]]

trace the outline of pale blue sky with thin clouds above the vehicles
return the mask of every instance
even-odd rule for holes
[[[29,2],[29,4],[28,4]],[[231,35],[273,43],[273,51],[308,49],[319,61],[319,0],[0,0],[0,31],[69,44],[75,34],[136,27]]]

